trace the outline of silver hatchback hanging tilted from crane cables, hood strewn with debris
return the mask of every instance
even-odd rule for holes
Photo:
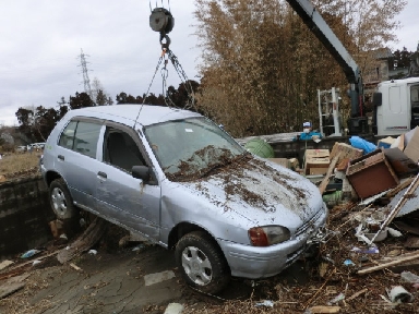
[[[59,218],[82,208],[173,249],[187,282],[207,293],[230,276],[280,273],[327,216],[309,180],[167,107],[71,110],[48,137],[41,172]]]

